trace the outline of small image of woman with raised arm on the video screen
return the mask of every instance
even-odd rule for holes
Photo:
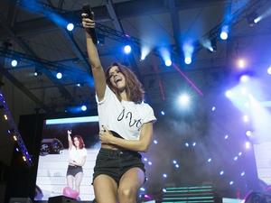
[[[84,141],[80,135],[74,135],[71,138],[71,130],[67,131],[69,142],[69,166],[66,174],[69,188],[63,189],[64,195],[77,198],[79,196],[79,187],[83,178],[82,166],[86,162],[87,150]]]

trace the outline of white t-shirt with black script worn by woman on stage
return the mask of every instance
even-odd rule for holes
[[[98,121],[100,129],[101,125],[105,125],[126,140],[139,140],[141,126],[156,121],[156,118],[148,104],[119,101],[107,86],[104,99],[98,102]]]

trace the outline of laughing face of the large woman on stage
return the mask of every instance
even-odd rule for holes
[[[126,88],[126,78],[117,66],[109,69],[108,76],[114,88],[117,88],[119,91],[123,91]]]

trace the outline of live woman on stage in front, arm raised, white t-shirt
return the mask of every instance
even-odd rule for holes
[[[95,198],[98,203],[135,203],[137,190],[145,182],[139,152],[146,152],[152,141],[154,110],[143,102],[142,84],[130,69],[115,62],[104,71],[88,32],[95,22],[82,14],[82,24],[87,31],[101,142],[93,174]]]

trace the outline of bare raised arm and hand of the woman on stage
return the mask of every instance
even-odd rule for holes
[[[82,14],[82,24],[85,29],[95,27],[95,22],[88,18],[88,14]],[[107,86],[105,72],[99,60],[97,47],[92,42],[91,36],[88,32],[86,32],[86,37],[89,62],[94,77],[95,89],[97,92],[98,100],[101,101],[105,96]]]

